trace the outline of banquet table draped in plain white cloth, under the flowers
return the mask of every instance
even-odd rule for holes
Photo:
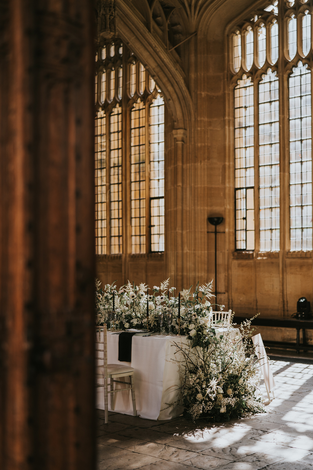
[[[234,339],[239,334],[238,329],[216,328],[216,335],[229,334]],[[183,413],[183,407],[175,404],[181,398],[179,387],[182,376],[175,361],[179,343],[188,345],[185,336],[149,337],[140,334],[132,337],[131,362],[118,360],[119,335],[107,332],[107,362],[108,364],[125,364],[134,368],[134,383],[136,395],[137,416],[151,420],[169,420]],[[178,353],[179,354],[179,353]],[[128,380],[128,379],[126,379]],[[103,382],[102,382],[103,383]],[[115,384],[115,388],[124,388],[123,384]],[[131,395],[128,391],[116,392],[114,411],[133,415]],[[110,410],[110,395],[109,395]],[[97,388],[97,408],[104,409],[103,388]]]

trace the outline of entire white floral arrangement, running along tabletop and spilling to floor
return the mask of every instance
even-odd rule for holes
[[[213,281],[197,284],[194,292],[191,288],[184,289],[177,297],[175,287],[170,288],[168,281],[161,282],[160,287],[153,286],[147,298],[145,283],[137,286],[128,282],[119,290],[112,283],[102,290],[96,280],[97,324],[110,320],[114,306],[118,329],[159,331],[159,316],[173,313],[171,330],[189,339],[189,344],[176,343],[176,360],[183,377],[184,415],[193,420],[227,421],[264,412],[264,399],[258,389],[259,363],[248,339],[252,319],[241,326],[239,340],[231,340],[227,332],[217,336],[218,322],[212,323],[216,304],[210,302]],[[224,305],[219,307],[222,310]],[[166,321],[163,324],[167,328]],[[232,324],[227,326],[230,328]]]

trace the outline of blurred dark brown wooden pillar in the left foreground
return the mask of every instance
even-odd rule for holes
[[[0,0],[0,469],[94,468],[90,0]]]

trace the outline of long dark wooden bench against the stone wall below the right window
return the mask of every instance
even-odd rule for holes
[[[240,315],[234,316],[233,322],[240,324],[247,319],[249,319],[249,317],[241,313]],[[313,319],[312,320],[298,320],[298,318],[290,318],[290,317],[257,317],[254,320],[252,320],[251,324],[253,326],[295,328],[297,330],[296,343],[288,343],[288,342],[282,342],[282,341],[263,341],[263,343],[267,346],[272,346],[272,347],[296,349],[298,354],[300,350],[313,351],[313,345],[308,345],[306,343],[306,338],[305,338],[305,330],[313,329]],[[302,329],[302,344],[300,343],[300,329]]]

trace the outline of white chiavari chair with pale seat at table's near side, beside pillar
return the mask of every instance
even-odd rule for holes
[[[123,364],[108,364],[107,363],[107,325],[96,327],[96,352],[97,352],[97,365],[96,365],[96,380],[102,379],[103,384],[96,381],[96,387],[104,388],[104,415],[105,423],[108,423],[108,384],[107,379],[110,379],[110,395],[111,395],[111,411],[114,410],[114,393],[122,392],[123,390],[131,391],[131,399],[133,403],[134,416],[137,416],[136,400],[135,400],[135,387],[134,387],[134,369],[130,366]],[[99,353],[102,353],[99,355]],[[99,362],[103,364],[99,365]],[[130,377],[130,382],[123,382],[115,380],[119,377]],[[114,383],[130,385],[127,388],[114,389]]]

